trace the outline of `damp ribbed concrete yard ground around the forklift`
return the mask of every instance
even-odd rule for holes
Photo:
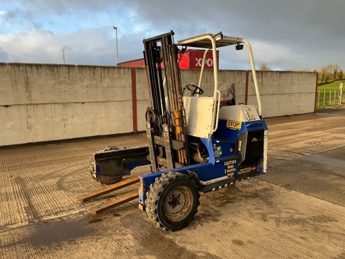
[[[92,152],[141,146],[142,133],[0,149],[0,258],[345,258],[345,109],[266,122],[268,173],[202,194],[175,232],[137,201],[87,212],[137,186],[75,199],[102,186]]]

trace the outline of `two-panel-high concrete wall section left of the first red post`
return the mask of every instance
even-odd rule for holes
[[[0,64],[0,146],[131,132],[131,93],[129,68]]]

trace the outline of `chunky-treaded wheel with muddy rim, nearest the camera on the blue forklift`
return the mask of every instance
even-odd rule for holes
[[[182,173],[156,178],[146,193],[148,217],[167,230],[183,229],[193,220],[200,194],[195,180]]]

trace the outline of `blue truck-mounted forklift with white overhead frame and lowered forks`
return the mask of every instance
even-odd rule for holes
[[[174,32],[144,39],[144,58],[150,106],[146,110],[147,145],[139,148],[103,148],[90,160],[95,180],[108,184],[77,197],[92,198],[139,183],[139,191],[117,196],[89,209],[101,213],[139,198],[139,209],[166,230],[183,229],[193,220],[200,193],[266,173],[268,128],[250,44],[218,32],[174,43]],[[217,48],[247,46],[257,97],[253,105],[237,104],[234,84],[218,83]],[[187,48],[204,49],[199,84],[182,86],[179,57]],[[206,89],[202,77],[206,55],[212,52],[214,88]],[[206,92],[205,90],[205,92]],[[150,171],[121,180],[137,166]]]

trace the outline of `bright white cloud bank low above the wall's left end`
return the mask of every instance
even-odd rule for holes
[[[63,64],[62,50],[65,50],[66,64],[114,65],[110,55],[115,51],[110,41],[106,30],[101,28],[64,35],[34,30],[0,35],[8,61],[21,63]]]

